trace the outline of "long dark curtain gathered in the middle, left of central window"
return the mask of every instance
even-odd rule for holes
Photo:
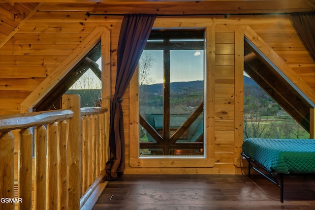
[[[117,49],[116,86],[110,113],[111,158],[105,167],[106,180],[114,180],[124,173],[125,135],[122,97],[138,65],[155,19],[156,15],[126,14],[122,22]]]

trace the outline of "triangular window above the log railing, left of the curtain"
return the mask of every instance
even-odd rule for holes
[[[33,111],[61,109],[64,93],[79,94],[81,107],[99,107],[101,95],[101,42],[80,60]]]

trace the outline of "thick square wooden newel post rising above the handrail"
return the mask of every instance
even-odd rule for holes
[[[71,109],[73,117],[69,120],[69,135],[67,140],[67,166],[69,171],[68,209],[80,209],[81,189],[81,98],[80,95],[64,94],[63,109]]]

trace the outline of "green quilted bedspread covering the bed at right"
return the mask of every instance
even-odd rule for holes
[[[243,152],[271,172],[315,173],[315,139],[246,139]]]

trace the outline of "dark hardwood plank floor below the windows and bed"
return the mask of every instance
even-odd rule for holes
[[[285,176],[280,188],[261,175],[123,175],[93,210],[315,210],[315,176]]]

